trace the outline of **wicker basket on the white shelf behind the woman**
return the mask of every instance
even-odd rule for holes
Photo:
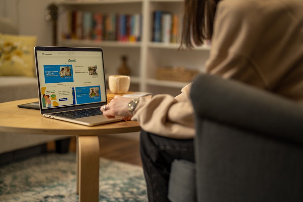
[[[156,70],[156,78],[169,81],[188,82],[199,73],[197,70],[188,70],[185,67],[159,67]]]

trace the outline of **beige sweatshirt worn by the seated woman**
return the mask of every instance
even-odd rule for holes
[[[206,72],[303,102],[302,11],[302,0],[221,0]],[[190,86],[175,98],[140,98],[132,120],[161,136],[194,137]]]

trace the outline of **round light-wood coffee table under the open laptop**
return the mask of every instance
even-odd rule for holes
[[[77,193],[79,202],[99,201],[99,138],[102,134],[141,131],[136,121],[83,126],[43,117],[39,110],[18,108],[38,98],[0,103],[0,131],[77,137]]]

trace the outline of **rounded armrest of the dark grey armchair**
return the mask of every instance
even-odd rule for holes
[[[199,75],[191,87],[196,116],[303,143],[303,105],[215,75]]]

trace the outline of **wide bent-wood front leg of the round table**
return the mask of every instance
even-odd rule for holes
[[[99,138],[77,136],[79,202],[99,201]]]

